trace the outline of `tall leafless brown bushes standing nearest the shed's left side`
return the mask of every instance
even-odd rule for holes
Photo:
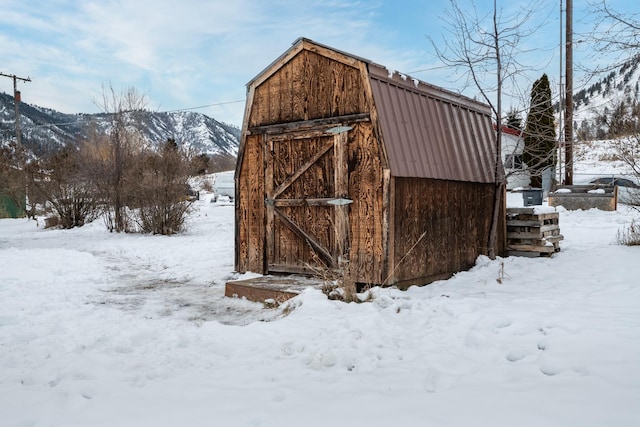
[[[111,231],[175,234],[191,210],[193,161],[169,139],[153,148],[141,133],[145,99],[135,89],[104,91],[107,129],[93,124],[79,151]]]

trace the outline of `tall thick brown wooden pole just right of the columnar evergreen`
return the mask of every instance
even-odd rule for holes
[[[573,185],[573,0],[567,0],[566,94],[564,114],[565,185]]]

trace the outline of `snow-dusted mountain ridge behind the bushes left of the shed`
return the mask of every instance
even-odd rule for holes
[[[152,144],[173,138],[198,154],[237,155],[240,129],[235,126],[192,111],[140,114],[143,134]],[[35,155],[86,137],[92,123],[101,129],[109,127],[106,114],[65,114],[24,102],[20,104],[20,116],[22,143]],[[14,138],[14,117],[13,96],[0,93],[0,140]]]

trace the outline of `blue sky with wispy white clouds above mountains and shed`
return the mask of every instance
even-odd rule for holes
[[[543,72],[557,85],[560,1],[497,3],[507,18],[535,5],[519,92]],[[481,17],[493,7],[458,4]],[[105,88],[135,88],[151,110],[193,110],[241,126],[246,84],[299,37],[477,96],[431,42],[442,46],[450,30],[449,0],[0,0],[0,9],[0,73],[31,79],[18,82],[23,102],[64,113],[100,112]],[[574,0],[574,40],[588,31],[587,10],[587,0]],[[574,63],[588,52],[576,44]],[[0,78],[0,92],[12,91],[12,79]]]

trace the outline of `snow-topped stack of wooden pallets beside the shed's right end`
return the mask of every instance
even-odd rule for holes
[[[507,209],[507,255],[540,257],[560,252],[560,214],[535,208]]]

